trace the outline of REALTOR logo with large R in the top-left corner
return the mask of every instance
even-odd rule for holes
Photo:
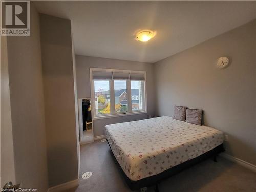
[[[2,1],[1,35],[30,36],[30,2]]]

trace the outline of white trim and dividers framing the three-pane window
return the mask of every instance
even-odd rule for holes
[[[126,89],[127,89],[127,95],[130,94],[131,97],[127,97],[127,104],[128,104],[128,112],[126,113],[116,113],[115,112],[115,105],[111,105],[110,114],[102,114],[102,115],[96,115],[95,111],[95,90],[94,90],[94,83],[93,83],[93,71],[111,71],[111,72],[130,72],[130,73],[143,73],[144,74],[144,109],[143,110],[136,110],[132,111],[132,95],[131,95],[131,80],[126,80]],[[106,79],[109,80],[109,79]],[[110,81],[110,103],[115,103],[115,92],[114,92],[114,80]],[[135,80],[136,81],[136,80]],[[139,81],[139,80],[138,80]],[[91,98],[92,98],[92,119],[105,119],[105,118],[112,118],[112,117],[119,117],[119,116],[127,116],[127,115],[136,115],[136,114],[142,114],[147,113],[147,92],[146,92],[146,72],[145,71],[133,71],[133,70],[118,70],[118,69],[105,69],[105,68],[90,68],[90,86],[91,86]],[[113,92],[113,93],[112,93]]]

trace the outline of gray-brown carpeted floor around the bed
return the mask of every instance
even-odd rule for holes
[[[81,146],[80,185],[67,192],[125,192],[127,188],[115,157],[107,142],[96,141]],[[82,179],[91,171],[89,179]],[[148,192],[154,191],[148,188]],[[160,192],[167,191],[256,191],[256,174],[222,157],[196,164],[159,184]]]

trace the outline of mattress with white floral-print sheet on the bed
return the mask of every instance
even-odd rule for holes
[[[122,167],[133,181],[150,177],[193,159],[223,143],[223,133],[157,117],[105,126],[106,139]]]

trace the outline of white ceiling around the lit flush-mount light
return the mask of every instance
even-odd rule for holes
[[[72,21],[75,53],[156,62],[256,18],[256,2],[42,1],[40,13]],[[139,29],[157,35],[135,40]]]

